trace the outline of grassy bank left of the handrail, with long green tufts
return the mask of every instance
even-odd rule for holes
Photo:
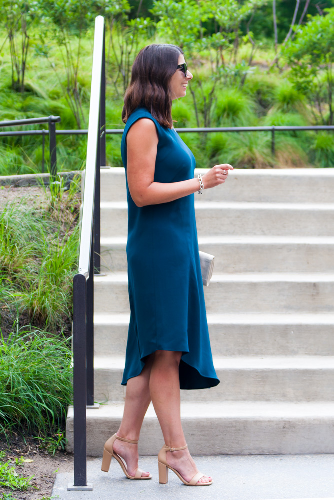
[[[59,177],[0,212],[0,433],[33,432],[51,454],[72,401],[79,180]]]

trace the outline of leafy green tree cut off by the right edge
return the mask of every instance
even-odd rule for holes
[[[324,14],[309,16],[308,23],[298,27],[283,54],[291,67],[289,77],[293,85],[310,99],[315,120],[332,125],[334,8],[326,9]]]

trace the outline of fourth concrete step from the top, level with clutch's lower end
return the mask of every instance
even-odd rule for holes
[[[209,313],[334,312],[334,274],[215,274],[204,294]],[[94,310],[129,312],[126,273],[94,277]]]

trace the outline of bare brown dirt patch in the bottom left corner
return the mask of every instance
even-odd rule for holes
[[[0,450],[5,452],[2,461],[11,460],[15,466],[15,458],[32,460],[23,462],[22,465],[15,466],[15,471],[19,476],[31,477],[31,486],[27,491],[13,491],[10,488],[0,486],[0,495],[11,493],[12,497],[18,500],[42,500],[51,496],[52,487],[57,472],[72,472],[73,455],[64,451],[56,451],[52,456],[42,448],[39,448],[40,441],[32,437],[16,435],[9,439],[7,444],[5,438],[0,438]]]

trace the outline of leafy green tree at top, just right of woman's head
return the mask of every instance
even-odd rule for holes
[[[179,45],[193,67],[199,64],[201,54],[209,57],[208,77],[201,79],[196,74],[189,85],[194,102],[197,126],[209,127],[215,101],[217,84],[239,84],[242,86],[249,64],[236,63],[240,43],[255,42],[249,30],[240,38],[240,24],[249,20],[256,8],[265,0],[160,0],[153,2],[151,12],[159,19],[157,34]],[[207,31],[206,25],[213,24]],[[253,53],[253,51],[252,51]],[[195,70],[196,71],[196,70]]]

